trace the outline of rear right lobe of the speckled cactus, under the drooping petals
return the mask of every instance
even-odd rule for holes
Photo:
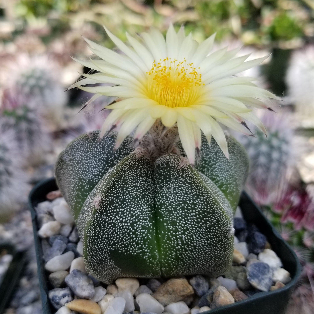
[[[226,136],[228,160],[212,138],[210,145],[202,136],[201,158],[195,168],[211,179],[229,201],[233,212],[239,203],[249,168],[249,160],[244,147],[230,135]]]

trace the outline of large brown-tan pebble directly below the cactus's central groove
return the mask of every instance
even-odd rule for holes
[[[182,301],[194,295],[192,286],[185,278],[173,278],[163,283],[154,292],[153,297],[163,306]]]

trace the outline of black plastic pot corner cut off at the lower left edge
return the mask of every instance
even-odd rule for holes
[[[0,252],[2,252],[2,250],[5,250],[7,254],[12,255],[13,259],[4,274],[3,279],[0,281],[0,313],[3,313],[8,305],[26,262],[25,253],[17,252],[13,245],[2,243],[0,244]]]

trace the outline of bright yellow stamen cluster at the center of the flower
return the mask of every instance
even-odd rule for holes
[[[188,107],[201,95],[202,74],[193,63],[166,58],[146,72],[148,97],[167,107]]]

